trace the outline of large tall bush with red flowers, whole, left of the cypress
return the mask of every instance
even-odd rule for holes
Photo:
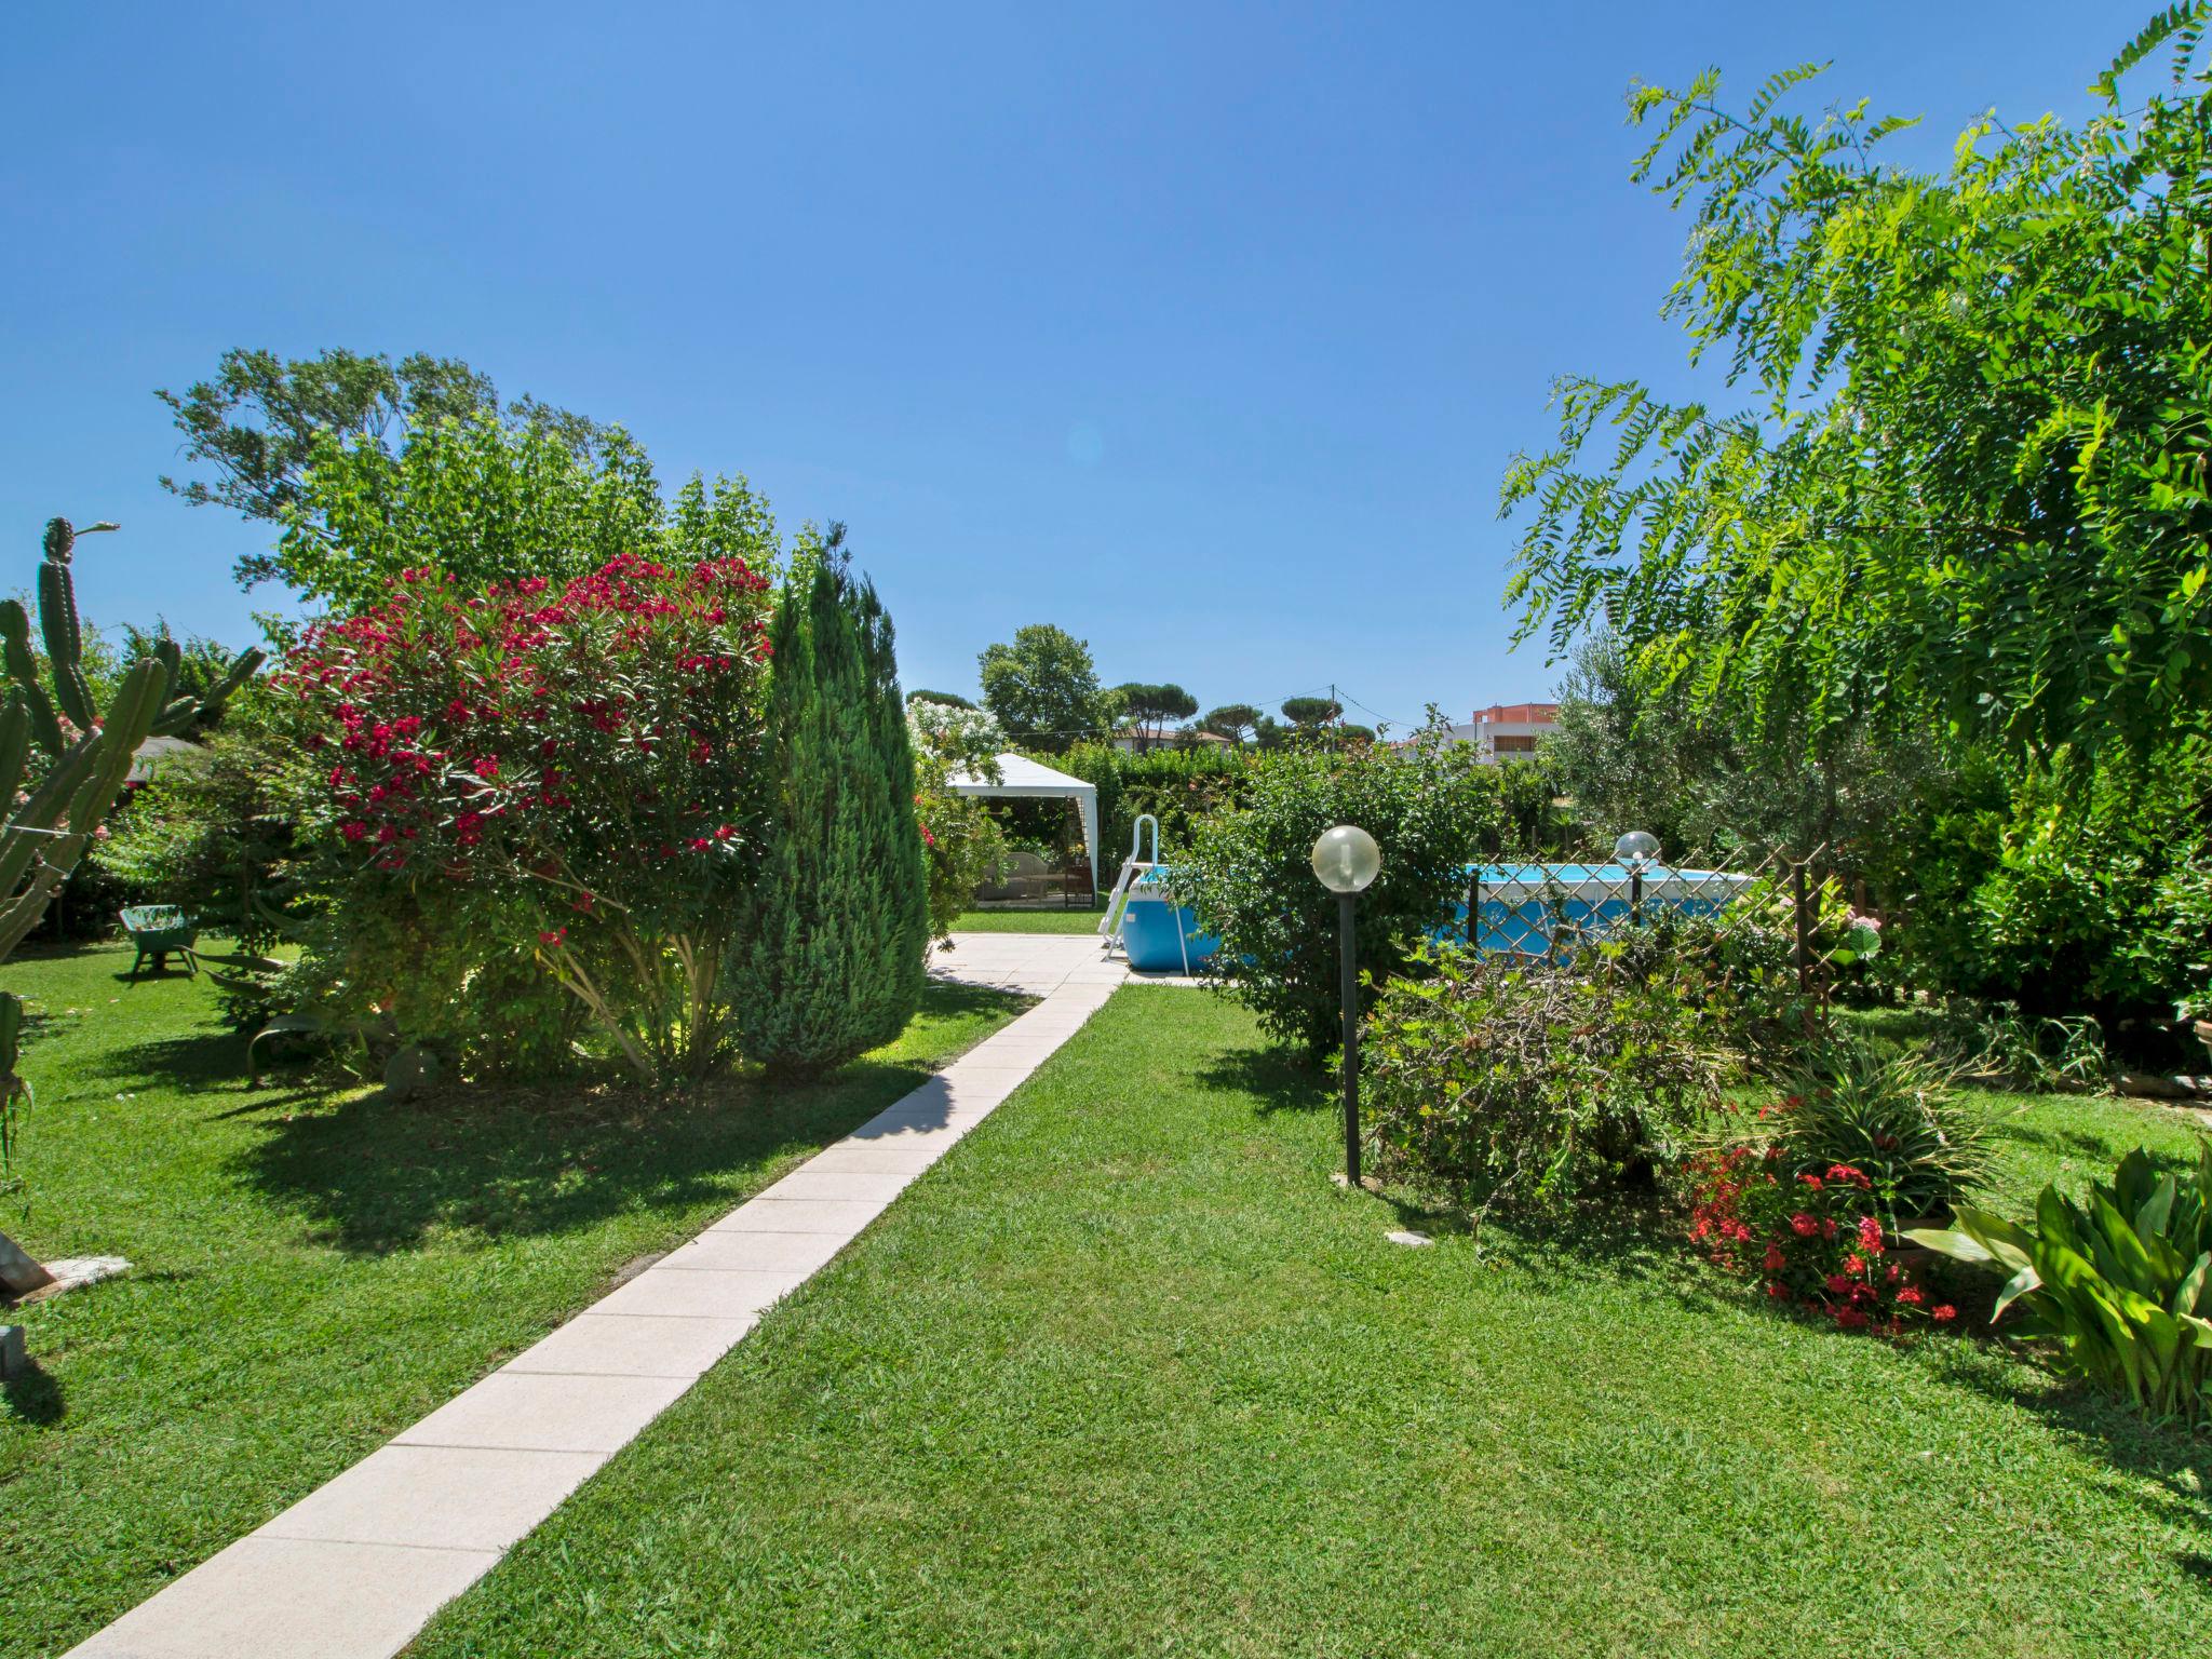
[[[714,975],[763,799],[768,580],[622,555],[557,593],[407,571],[279,684],[330,761],[345,907],[495,914],[648,1077],[721,1055]],[[489,900],[489,902],[487,902]]]

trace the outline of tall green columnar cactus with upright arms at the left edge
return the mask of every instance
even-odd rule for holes
[[[175,644],[164,641],[166,648],[131,664],[106,714],[100,714],[84,677],[84,630],[69,571],[75,544],[77,533],[66,518],[46,520],[46,557],[38,566],[44,677],[31,650],[31,617],[20,602],[0,599],[0,661],[11,681],[7,701],[0,701],[0,812],[9,814],[0,825],[0,962],[38,927],[75,872],[131,776],[137,745],[221,708],[263,659],[263,653],[246,650],[208,697],[170,697],[179,659]],[[33,748],[42,752],[35,781]],[[0,991],[0,1157],[11,1139],[9,1119],[31,1093],[15,1071],[20,1029],[22,1000]],[[0,1234],[0,1287],[22,1294],[42,1283],[49,1283],[46,1270]]]

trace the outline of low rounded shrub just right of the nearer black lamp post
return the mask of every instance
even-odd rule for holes
[[[1632,942],[1566,962],[1447,949],[1420,967],[1360,1037],[1383,1170],[1413,1186],[1557,1212],[1648,1181],[1732,1075],[1703,978]]]

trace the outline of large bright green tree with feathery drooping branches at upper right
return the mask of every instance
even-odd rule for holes
[[[1568,378],[1509,604],[1557,650],[1599,617],[1701,719],[1814,754],[1942,719],[2013,754],[2150,745],[2212,701],[2208,7],[2174,4],[2081,126],[1723,111],[1719,75],[1639,88],[1635,168],[1692,210],[1668,310],[1730,409]],[[2174,80],[2119,84],[2161,42]]]

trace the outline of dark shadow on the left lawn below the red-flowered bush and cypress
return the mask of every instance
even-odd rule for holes
[[[929,1020],[1018,1011],[1000,991],[931,984]],[[599,1082],[367,1091],[268,1124],[239,1175],[341,1250],[411,1250],[434,1230],[484,1237],[588,1228],[635,1210],[734,1201],[748,1175],[812,1152],[920,1088],[920,1062],[869,1057],[810,1084],[737,1073],[706,1088]]]

